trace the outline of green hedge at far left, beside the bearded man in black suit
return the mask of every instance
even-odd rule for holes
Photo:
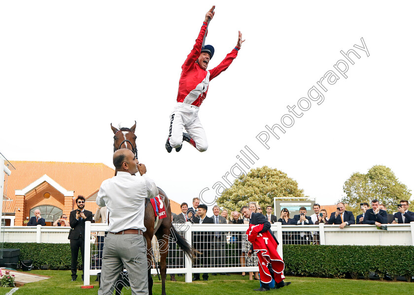
[[[4,249],[20,249],[20,260],[33,260],[33,266],[49,269],[70,269],[71,254],[69,243],[9,243],[4,242]],[[78,265],[82,264],[80,251]]]

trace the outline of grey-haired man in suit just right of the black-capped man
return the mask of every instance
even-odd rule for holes
[[[220,207],[215,205],[213,207],[213,216],[210,218],[213,219],[214,224],[227,224],[227,219],[223,216],[219,215],[220,213]],[[226,250],[226,236],[223,235],[222,232],[214,232],[213,238],[212,238],[212,249],[211,254],[213,254],[212,257],[214,257],[214,261],[212,262],[215,266],[221,266],[223,267],[225,265],[225,250]],[[223,272],[221,274],[227,275],[227,273]],[[211,275],[217,275],[217,273],[212,273]]]

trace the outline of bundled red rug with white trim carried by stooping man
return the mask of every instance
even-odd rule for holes
[[[256,252],[257,258],[259,259],[260,280],[264,283],[270,283],[272,281],[272,275],[268,267],[271,264],[274,279],[276,283],[280,283],[284,279],[284,262],[276,251],[276,240],[269,231],[259,233],[262,230],[263,224],[250,224],[246,232],[247,239],[252,243],[253,251]]]

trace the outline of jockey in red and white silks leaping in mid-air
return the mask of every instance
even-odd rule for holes
[[[242,33],[239,31],[236,47],[219,65],[207,70],[207,65],[214,55],[214,47],[204,46],[204,40],[207,35],[208,23],[214,16],[213,10],[214,6],[206,13],[196,44],[181,66],[177,105],[170,115],[170,133],[165,144],[168,152],[171,152],[173,148],[175,151],[179,151],[183,141],[189,142],[199,151],[207,150],[206,132],[198,117],[200,105],[207,96],[209,81],[229,67],[244,42]],[[188,133],[184,133],[183,128]]]

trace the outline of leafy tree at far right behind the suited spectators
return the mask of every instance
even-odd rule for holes
[[[391,169],[381,165],[373,166],[367,174],[352,174],[344,183],[344,192],[346,196],[341,201],[354,214],[362,212],[360,203],[370,204],[374,199],[389,208],[390,213],[396,210],[400,200],[410,200],[411,197],[411,190],[398,181]]]

